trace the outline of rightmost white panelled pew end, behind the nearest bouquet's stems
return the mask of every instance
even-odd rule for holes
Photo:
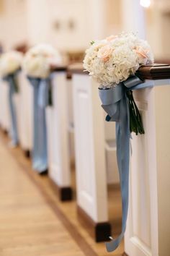
[[[155,83],[158,85],[159,81]],[[125,252],[129,256],[169,255],[170,122],[166,118],[169,93],[170,87],[164,86],[134,92],[145,135],[133,135],[132,140],[130,205],[125,232]]]

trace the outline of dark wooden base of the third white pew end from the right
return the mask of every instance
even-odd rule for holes
[[[58,184],[53,182],[53,179],[50,179],[50,183],[62,202],[73,199],[73,189],[71,187],[59,187]]]

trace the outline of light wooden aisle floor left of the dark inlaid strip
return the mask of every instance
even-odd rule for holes
[[[0,255],[83,256],[39,189],[1,142],[0,155]]]

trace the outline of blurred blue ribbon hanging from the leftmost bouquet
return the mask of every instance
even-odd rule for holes
[[[17,132],[17,116],[16,116],[16,109],[14,104],[14,94],[18,93],[18,87],[16,82],[17,72],[14,74],[8,74],[6,77],[3,77],[3,80],[8,82],[9,84],[9,111],[10,111],[10,118],[11,118],[11,127],[10,127],[10,136],[12,138],[12,144],[17,145],[18,140],[18,132]]]

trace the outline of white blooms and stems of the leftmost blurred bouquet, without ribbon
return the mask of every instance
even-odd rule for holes
[[[19,51],[9,51],[0,57],[0,75],[3,80],[10,82],[15,93],[18,92],[16,75],[22,65],[23,55]]]

